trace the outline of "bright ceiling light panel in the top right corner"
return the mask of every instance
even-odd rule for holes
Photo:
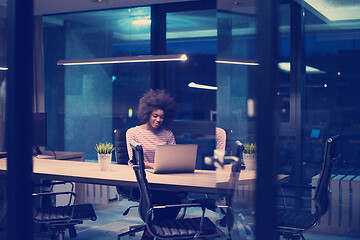
[[[303,0],[297,0],[300,4]],[[359,20],[360,1],[358,0],[305,0],[303,4],[309,11],[330,21]]]

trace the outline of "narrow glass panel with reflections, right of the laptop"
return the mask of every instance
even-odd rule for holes
[[[226,62],[216,64],[216,126],[218,133],[219,129],[225,132],[225,156],[216,168],[218,193],[223,197],[218,204],[232,207],[235,211],[233,237],[244,238],[251,234],[248,224],[254,221],[255,203],[256,174],[250,167],[254,164],[249,162],[251,170],[244,169],[243,156],[244,144],[254,142],[256,133],[254,94],[250,87],[258,69],[256,17],[254,6],[224,3],[221,7],[226,11],[217,13],[217,60]],[[250,161],[254,163],[256,159]]]

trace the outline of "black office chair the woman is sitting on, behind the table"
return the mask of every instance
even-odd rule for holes
[[[129,161],[129,155],[126,145],[126,131],[127,131],[126,129],[114,130],[115,159],[117,164],[127,165]],[[140,199],[139,189],[132,187],[116,186],[116,190],[121,197],[126,198],[129,201],[139,202]],[[138,205],[132,205],[128,207],[124,211],[123,216],[126,216],[129,213],[130,209],[135,207],[138,207]],[[145,224],[129,226],[129,230],[119,234],[118,239],[127,235],[134,236],[135,233],[144,231],[145,228],[146,228]]]

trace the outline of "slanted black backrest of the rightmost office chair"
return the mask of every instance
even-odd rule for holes
[[[339,136],[330,137],[325,143],[325,152],[323,165],[320,172],[317,188],[315,190],[315,208],[322,216],[329,207],[329,183],[331,178],[331,172],[334,165],[334,159],[336,158],[336,144],[339,140]]]

